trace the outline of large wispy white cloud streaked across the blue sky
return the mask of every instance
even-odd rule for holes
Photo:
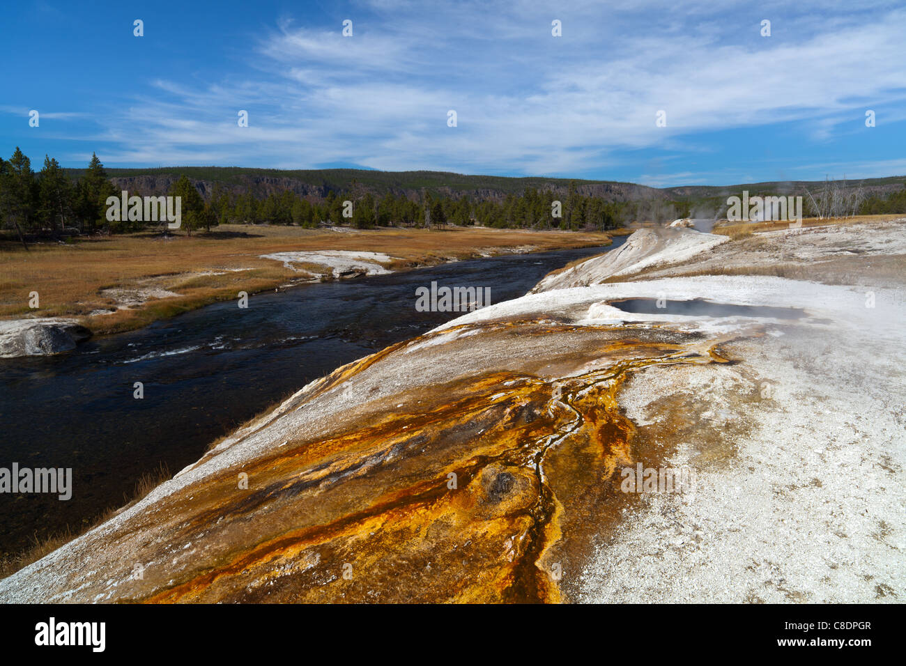
[[[718,130],[769,134],[792,123],[818,144],[861,128],[864,109],[906,120],[906,10],[890,2],[805,3],[794,13],[774,2],[644,0],[621,10],[375,0],[348,14],[352,37],[339,19],[332,28],[275,17],[268,34],[249,36],[244,70],[143,82],[91,136],[111,147],[111,164],[564,175],[619,169],[640,150],[708,153]],[[554,18],[562,37],[551,35]],[[759,34],[762,18],[771,37]],[[236,126],[239,110],[249,127]],[[666,127],[655,124],[661,110]]]

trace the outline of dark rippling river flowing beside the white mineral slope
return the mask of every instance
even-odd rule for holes
[[[207,445],[338,366],[457,317],[421,313],[415,290],[490,287],[492,303],[602,249],[499,256],[209,305],[83,343],[52,357],[0,359],[0,468],[72,468],[72,498],[0,494],[0,555],[67,527],[78,531],[164,465]],[[144,397],[133,397],[141,382]]]

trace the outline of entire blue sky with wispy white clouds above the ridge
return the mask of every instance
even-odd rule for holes
[[[35,168],[45,153],[81,167],[97,151],[108,167],[656,187],[906,174],[902,2],[38,0],[3,12],[0,152],[21,146]]]

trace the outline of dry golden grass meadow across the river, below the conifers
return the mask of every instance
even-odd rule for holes
[[[167,318],[218,300],[274,289],[299,273],[259,256],[275,252],[353,250],[382,252],[395,258],[388,267],[435,265],[448,258],[504,253],[520,246],[536,250],[606,245],[610,236],[595,232],[512,229],[382,228],[336,232],[300,227],[224,225],[210,234],[169,238],[148,233],[83,238],[69,245],[35,244],[25,251],[12,237],[0,240],[0,318],[74,316],[95,333],[116,333]],[[229,271],[246,268],[250,270]],[[323,266],[308,266],[325,275]],[[204,275],[206,272],[223,275]],[[198,275],[193,275],[198,274]],[[120,309],[103,290],[165,289],[178,297],[150,299]],[[37,292],[40,308],[29,307]]]

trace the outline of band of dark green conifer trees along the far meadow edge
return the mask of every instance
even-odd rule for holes
[[[130,191],[129,194],[152,193]],[[526,188],[522,195],[508,194],[502,200],[477,200],[465,195],[456,198],[425,190],[414,198],[392,193],[375,197],[371,192],[362,192],[354,181],[352,192],[331,190],[326,197],[315,200],[300,197],[291,189],[257,198],[249,191],[231,192],[220,183],[215,183],[205,198],[185,175],[173,184],[168,195],[181,198],[182,228],[189,235],[193,230],[210,231],[211,227],[230,223],[300,227],[333,224],[360,229],[482,225],[605,231],[632,220],[663,222],[689,217],[694,203],[651,199],[608,201],[579,194],[574,182],[565,196],[551,189]],[[111,196],[119,197],[120,190],[113,185],[96,154],[92,153],[88,169],[79,179],[72,179],[49,156],[44,157],[42,168],[35,172],[31,160],[18,147],[10,159],[0,158],[0,225],[14,230],[23,244],[26,235],[115,234],[159,226],[157,222],[108,220],[106,201]],[[906,212],[906,188],[887,197],[865,198],[859,212]]]

